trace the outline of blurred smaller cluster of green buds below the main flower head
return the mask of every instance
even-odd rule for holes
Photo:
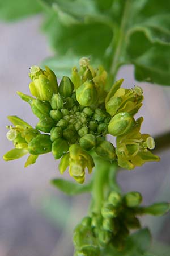
[[[109,245],[121,251],[129,233],[141,228],[138,216],[161,216],[169,210],[168,203],[141,207],[141,201],[139,192],[128,192],[126,195],[116,191],[109,193],[100,212],[90,213],[76,226],[73,236],[75,256],[100,255],[100,250]]]

